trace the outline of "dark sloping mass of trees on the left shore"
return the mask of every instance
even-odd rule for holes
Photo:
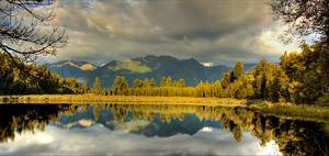
[[[63,79],[45,66],[13,59],[0,54],[0,94],[81,93],[75,79]]]

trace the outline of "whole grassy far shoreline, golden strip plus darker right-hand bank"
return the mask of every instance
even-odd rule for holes
[[[287,118],[321,118],[329,121],[329,108],[315,105],[294,105],[291,103],[271,103],[262,100],[239,100],[231,98],[192,98],[192,97],[135,97],[135,96],[100,96],[100,94],[30,94],[0,96],[0,104],[181,104],[206,107],[241,107],[265,114]]]

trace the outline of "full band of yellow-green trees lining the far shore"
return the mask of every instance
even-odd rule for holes
[[[201,81],[195,87],[186,87],[183,79],[174,80],[170,76],[162,77],[160,83],[151,78],[136,79],[134,86],[129,87],[125,77],[118,76],[112,88],[101,88],[98,78],[93,88],[88,88],[86,83],[78,83],[75,79],[60,78],[44,66],[24,64],[19,59],[11,60],[7,54],[0,54],[0,94],[94,93],[141,98],[235,98],[328,105],[329,48],[327,44],[309,46],[305,43],[300,48],[300,53],[285,53],[279,65],[261,60],[252,70],[246,73],[242,64],[237,63],[223,79],[214,82]]]

